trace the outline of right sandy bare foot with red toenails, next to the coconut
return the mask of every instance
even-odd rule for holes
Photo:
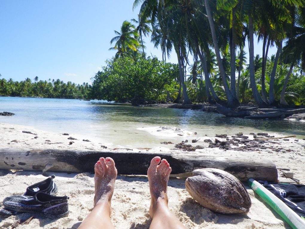
[[[149,207],[149,214],[152,217],[157,202],[168,203],[167,198],[167,182],[170,176],[171,168],[166,159],[160,157],[152,158],[150,166],[147,170],[149,181],[149,190],[151,195],[151,202]],[[160,163],[160,165],[158,165]]]

